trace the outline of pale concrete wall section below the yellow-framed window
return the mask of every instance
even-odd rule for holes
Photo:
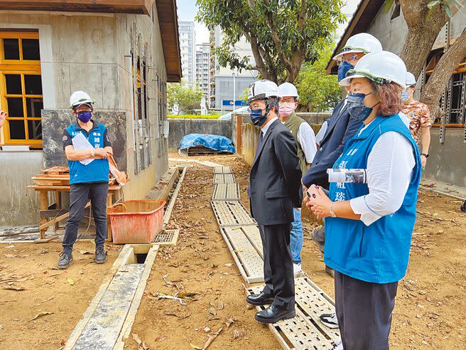
[[[38,196],[27,186],[42,167],[41,151],[0,151],[0,228],[38,224]]]

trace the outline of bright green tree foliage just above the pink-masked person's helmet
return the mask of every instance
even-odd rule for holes
[[[296,80],[299,103],[308,112],[324,112],[335,107],[342,98],[337,76],[327,75],[325,66],[332,56],[331,46],[326,46],[314,63],[304,63]]]

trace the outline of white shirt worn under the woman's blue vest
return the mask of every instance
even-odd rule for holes
[[[352,210],[366,226],[401,208],[415,165],[413,147],[406,137],[399,132],[381,134],[367,158],[369,194],[350,200]]]

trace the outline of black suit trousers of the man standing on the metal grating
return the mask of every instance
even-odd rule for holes
[[[290,251],[291,223],[259,225],[264,248],[263,292],[275,296],[273,305],[293,310],[295,307],[295,280]]]

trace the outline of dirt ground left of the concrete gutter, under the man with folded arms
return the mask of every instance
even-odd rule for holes
[[[107,249],[107,263],[96,265],[94,245],[77,242],[72,265],[58,270],[61,243],[1,244],[0,349],[59,349],[65,344],[121,247]]]

